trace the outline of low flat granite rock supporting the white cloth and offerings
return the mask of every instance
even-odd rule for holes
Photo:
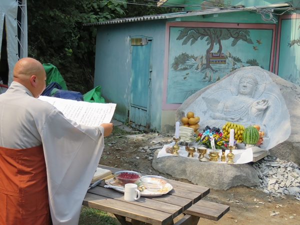
[[[227,190],[232,186],[259,185],[255,169],[249,164],[226,164],[202,162],[181,156],[164,156],[157,158],[159,150],[154,153],[152,167],[159,172],[176,178],[184,178],[194,184],[212,189]]]

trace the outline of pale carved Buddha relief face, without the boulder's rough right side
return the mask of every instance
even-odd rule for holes
[[[268,73],[257,66],[229,73],[187,98],[177,109],[176,120],[193,111],[200,117],[200,131],[206,125],[221,129],[226,121],[245,127],[258,124],[265,132],[261,148],[275,146],[288,138],[290,122],[280,89]]]

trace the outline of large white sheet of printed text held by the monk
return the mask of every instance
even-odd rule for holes
[[[39,96],[38,98],[52,104],[65,117],[87,126],[99,126],[103,122],[110,122],[116,106],[115,103],[76,101],[58,97]]]

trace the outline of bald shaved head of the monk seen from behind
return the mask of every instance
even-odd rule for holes
[[[34,58],[21,58],[13,68],[13,81],[24,85],[34,97],[45,88],[46,74],[42,64]]]

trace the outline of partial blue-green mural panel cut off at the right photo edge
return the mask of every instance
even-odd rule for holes
[[[282,15],[278,33],[275,73],[300,86],[300,14]]]

